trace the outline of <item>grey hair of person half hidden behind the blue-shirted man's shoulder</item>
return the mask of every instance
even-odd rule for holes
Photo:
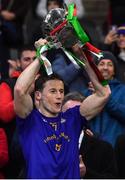
[[[65,95],[63,105],[69,100],[82,102],[84,99],[85,96],[82,93],[78,91],[73,91]]]

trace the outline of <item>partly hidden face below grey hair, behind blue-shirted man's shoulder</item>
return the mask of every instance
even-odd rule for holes
[[[62,107],[62,111],[66,111],[69,108],[73,108],[75,106],[81,105],[81,102],[75,100],[68,100]]]

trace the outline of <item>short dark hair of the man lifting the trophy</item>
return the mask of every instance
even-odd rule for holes
[[[63,82],[62,78],[58,76],[57,74],[51,74],[50,76],[40,76],[35,81],[35,91],[43,90],[45,87],[45,83],[50,80],[60,80]]]

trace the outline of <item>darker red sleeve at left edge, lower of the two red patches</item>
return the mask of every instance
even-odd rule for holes
[[[8,143],[5,131],[0,128],[0,168],[8,162]]]

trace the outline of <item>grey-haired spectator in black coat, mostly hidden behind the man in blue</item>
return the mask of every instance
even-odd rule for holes
[[[63,111],[79,106],[85,97],[79,92],[71,92],[65,95]],[[91,132],[89,130],[89,132]],[[80,155],[82,161],[80,172],[82,179],[110,179],[117,177],[117,164],[112,146],[97,138],[88,129],[81,132],[79,138]]]

